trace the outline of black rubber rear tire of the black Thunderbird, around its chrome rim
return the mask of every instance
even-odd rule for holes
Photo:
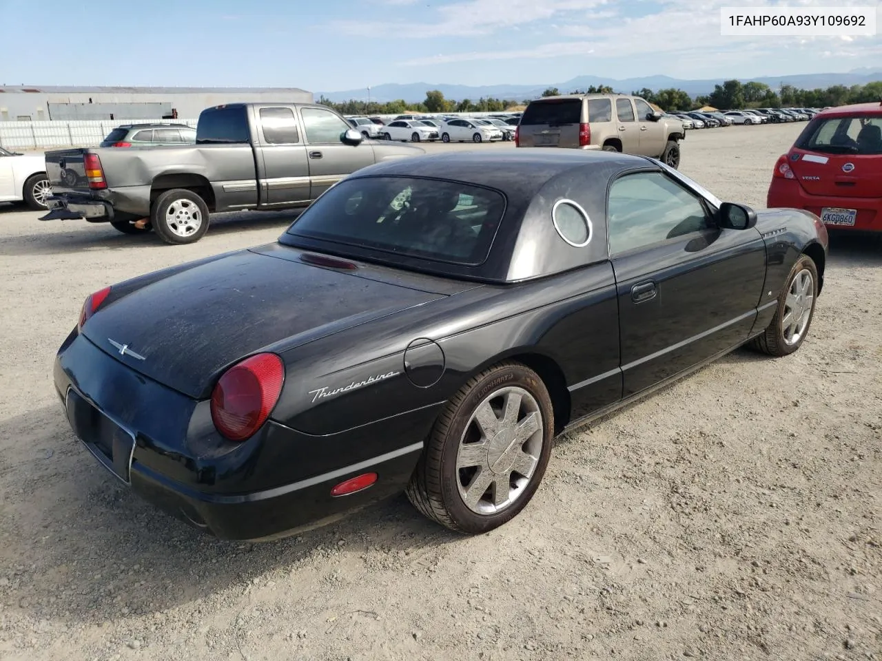
[[[503,509],[490,514],[479,514],[469,509],[460,495],[462,471],[470,470],[457,468],[460,439],[471,427],[472,415],[478,405],[494,392],[512,386],[526,390],[533,397],[534,404],[538,405],[542,449],[539,457],[536,457],[531,476],[521,487],[523,491]],[[533,436],[530,438],[533,439]],[[521,363],[500,363],[469,379],[440,413],[407,485],[407,498],[424,516],[453,531],[467,534],[491,531],[511,521],[533,498],[548,466],[553,438],[554,412],[542,379]],[[535,439],[527,442],[534,441]],[[512,448],[505,451],[510,449]]]

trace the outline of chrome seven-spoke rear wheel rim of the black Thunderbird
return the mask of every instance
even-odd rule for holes
[[[457,450],[460,497],[477,514],[497,514],[524,494],[542,456],[542,410],[522,388],[496,390],[475,408]]]

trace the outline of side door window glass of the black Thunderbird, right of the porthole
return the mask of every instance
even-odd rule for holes
[[[657,172],[625,175],[613,182],[607,226],[612,255],[711,227],[699,198]]]

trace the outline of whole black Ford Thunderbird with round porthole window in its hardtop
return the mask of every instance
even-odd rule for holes
[[[745,343],[796,351],[826,254],[811,213],[639,156],[386,162],[273,244],[93,293],[55,384],[108,471],[217,537],[402,491],[480,533],[531,499],[556,434]]]

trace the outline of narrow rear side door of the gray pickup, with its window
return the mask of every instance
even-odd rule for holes
[[[255,108],[258,120],[263,176],[259,181],[261,206],[297,204],[312,199],[306,144],[294,108]]]

